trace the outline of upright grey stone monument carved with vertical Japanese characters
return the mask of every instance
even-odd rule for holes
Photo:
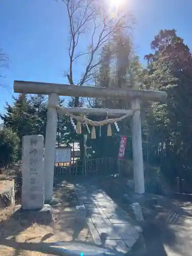
[[[41,209],[44,206],[44,136],[23,136],[22,208]]]

